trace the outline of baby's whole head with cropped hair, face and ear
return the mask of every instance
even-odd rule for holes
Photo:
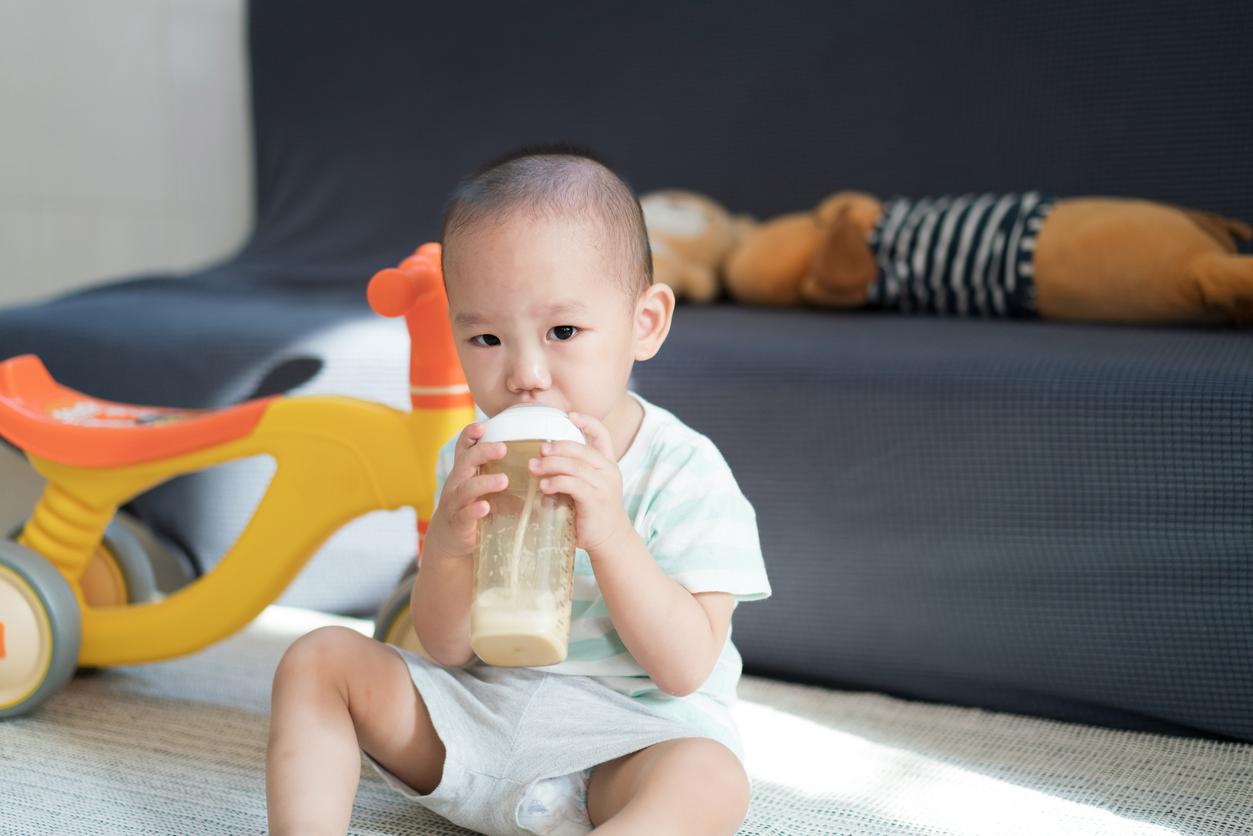
[[[444,213],[457,355],[490,416],[539,402],[605,420],[669,331],[639,201],[568,147],[524,149],[466,178]]]

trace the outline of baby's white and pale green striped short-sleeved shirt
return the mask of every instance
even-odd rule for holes
[[[692,593],[725,592],[737,600],[768,597],[757,515],[718,447],[674,414],[632,395],[644,407],[644,420],[618,466],[626,515],[653,559]],[[455,444],[454,437],[440,451],[436,495],[452,468]],[[569,656],[543,671],[594,677],[741,752],[729,709],[742,663],[729,633],[704,684],[687,697],[672,697],[626,651],[583,549],[575,551],[571,598]]]

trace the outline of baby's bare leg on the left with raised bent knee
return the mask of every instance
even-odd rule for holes
[[[440,782],[444,743],[405,662],[360,633],[323,627],[297,639],[274,672],[271,832],[345,832],[361,777],[358,746],[419,792]]]

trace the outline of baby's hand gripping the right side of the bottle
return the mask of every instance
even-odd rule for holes
[[[541,456],[531,459],[530,471],[541,476],[540,490],[545,494],[569,494],[574,499],[575,543],[595,558],[615,538],[634,529],[623,505],[623,476],[609,430],[581,412],[570,412],[570,421],[588,444],[549,441],[540,447]]]

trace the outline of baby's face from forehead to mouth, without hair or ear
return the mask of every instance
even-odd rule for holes
[[[485,222],[447,256],[452,337],[484,412],[545,404],[603,420],[618,406],[635,360],[634,306],[609,273],[623,258],[595,224]]]

